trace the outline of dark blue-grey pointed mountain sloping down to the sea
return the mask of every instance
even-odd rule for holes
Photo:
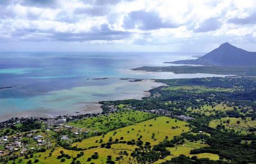
[[[256,52],[245,51],[226,42],[198,59],[166,63],[200,64],[205,66],[256,66]]]

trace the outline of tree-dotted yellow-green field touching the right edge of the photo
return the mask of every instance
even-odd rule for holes
[[[229,123],[227,121],[229,120]],[[217,125],[224,125],[225,128],[235,130],[237,132],[247,133],[248,128],[256,127],[256,120],[252,121],[250,117],[242,118],[225,117],[218,120],[212,120],[209,124],[210,127],[216,128]]]

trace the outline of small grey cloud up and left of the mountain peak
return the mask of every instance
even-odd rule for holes
[[[198,28],[194,28],[194,32],[215,31],[221,27],[221,22],[218,18],[209,18],[202,22]]]

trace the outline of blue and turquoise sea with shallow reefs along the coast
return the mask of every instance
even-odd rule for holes
[[[120,78],[217,76],[130,70],[141,66],[169,66],[163,62],[191,59],[193,55],[155,52],[2,52],[0,120],[97,112],[86,108],[87,103],[140,99],[145,96],[145,91],[161,85],[150,80],[129,82]]]

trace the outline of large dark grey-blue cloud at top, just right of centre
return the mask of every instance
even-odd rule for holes
[[[141,30],[151,30],[159,28],[176,28],[177,24],[164,22],[156,12],[134,11],[130,12],[124,18],[124,28]]]

